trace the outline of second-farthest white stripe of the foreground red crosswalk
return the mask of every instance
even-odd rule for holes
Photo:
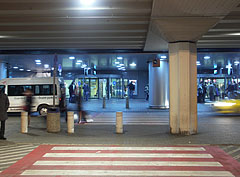
[[[210,154],[156,154],[156,153],[46,153],[43,157],[136,157],[136,158],[213,158]]]

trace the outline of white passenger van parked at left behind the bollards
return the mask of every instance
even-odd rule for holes
[[[55,105],[64,109],[65,87],[60,78],[55,80]],[[7,78],[0,80],[0,88],[8,95],[10,106],[8,112],[21,112],[25,105],[24,92],[30,89],[33,92],[32,111],[46,115],[49,107],[53,106],[53,78]]]

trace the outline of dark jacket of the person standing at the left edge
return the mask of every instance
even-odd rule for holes
[[[0,92],[0,121],[8,119],[7,110],[9,108],[9,100],[6,94]]]

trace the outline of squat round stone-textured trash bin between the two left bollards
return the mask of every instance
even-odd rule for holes
[[[47,132],[58,133],[60,130],[61,126],[59,108],[49,108],[47,113]]]

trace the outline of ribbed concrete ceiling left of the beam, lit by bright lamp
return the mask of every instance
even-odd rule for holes
[[[1,0],[0,50],[143,49],[152,0]]]

